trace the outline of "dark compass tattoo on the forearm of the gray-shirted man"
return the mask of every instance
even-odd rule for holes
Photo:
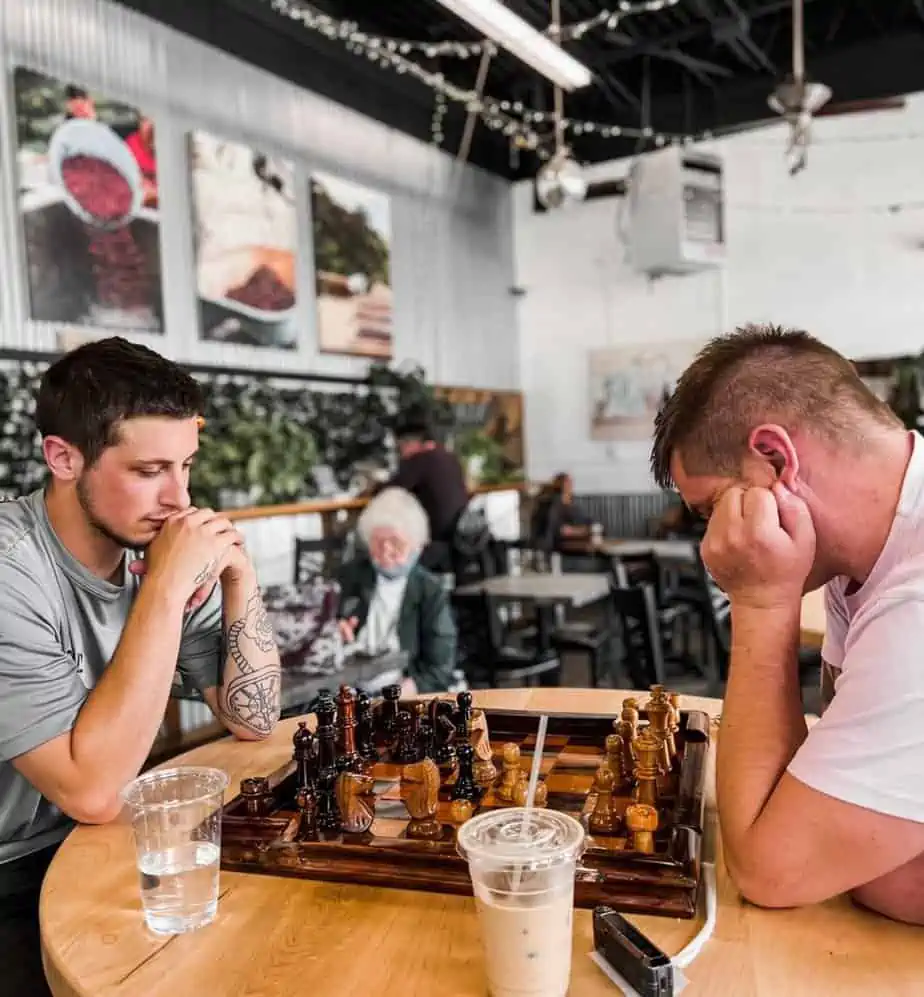
[[[256,734],[271,733],[279,719],[279,660],[275,655],[269,662],[262,660],[275,648],[273,626],[256,589],[247,601],[243,618],[228,627],[228,657],[238,674],[220,697],[224,718]],[[254,649],[261,659],[256,662]]]

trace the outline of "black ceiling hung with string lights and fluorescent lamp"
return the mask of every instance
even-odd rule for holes
[[[409,75],[363,56],[276,13],[266,0],[121,0],[211,45],[315,90],[417,138],[431,134],[433,93]],[[300,0],[291,0],[300,2]],[[805,0],[810,75],[834,90],[838,103],[924,90],[924,0]],[[538,28],[549,21],[548,0],[507,0]],[[563,21],[599,13],[601,0],[561,0]],[[476,40],[477,34],[436,0],[315,0],[325,13],[390,37]],[[651,126],[670,133],[720,131],[769,116],[767,95],[791,67],[790,0],[679,0],[675,6],[621,20],[572,41],[568,48],[595,73],[591,87],[566,98],[575,119]],[[478,59],[427,59],[433,71],[474,86]],[[529,67],[501,53],[491,63],[485,93],[548,110],[551,87]],[[465,111],[452,105],[445,122],[448,152],[462,135]],[[637,140],[574,136],[584,162],[629,155]],[[535,172],[530,152],[479,125],[470,157],[501,175]]]

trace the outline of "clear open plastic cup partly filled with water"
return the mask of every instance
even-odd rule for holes
[[[159,935],[195,931],[215,918],[227,787],[220,769],[191,766],[146,772],[125,787],[144,920]]]

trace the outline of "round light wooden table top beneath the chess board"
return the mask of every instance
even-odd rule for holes
[[[617,712],[627,693],[512,689],[476,693],[479,706]],[[635,693],[637,695],[637,693]],[[682,697],[717,715],[717,700]],[[216,765],[235,791],[291,755],[295,721],[260,744],[230,739],[182,761]],[[712,776],[710,773],[710,785]],[[710,789],[709,805],[712,806]],[[720,852],[720,849],[719,849]],[[718,862],[716,931],[687,970],[687,997],[905,997],[920,990],[920,929],[846,900],[795,911],[741,902]],[[482,958],[471,898],[221,874],[217,920],[158,938],[144,927],[131,830],[81,827],[62,845],[42,892],[46,972],[55,997],[482,997]],[[698,921],[633,918],[669,954]],[[590,961],[591,914],[575,912],[572,997],[618,993]]]

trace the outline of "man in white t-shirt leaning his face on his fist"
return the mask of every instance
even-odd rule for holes
[[[731,601],[717,791],[739,889],[768,907],[850,892],[924,923],[924,438],[833,350],[748,327],[683,374],[652,470],[709,519]],[[825,584],[808,730],[801,599]]]

